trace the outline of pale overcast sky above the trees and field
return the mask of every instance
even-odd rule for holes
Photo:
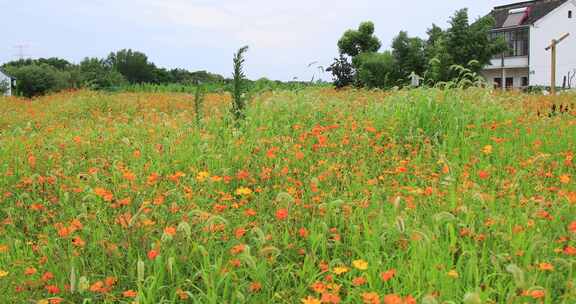
[[[0,62],[17,58],[17,45],[27,57],[73,62],[132,48],[161,67],[230,76],[234,51],[247,44],[250,78],[310,80],[316,69],[308,64],[329,65],[338,38],[362,21],[375,23],[386,49],[400,30],[424,37],[457,9],[476,19],[510,2],[517,1],[0,0]]]

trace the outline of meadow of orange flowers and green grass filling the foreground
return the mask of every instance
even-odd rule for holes
[[[0,303],[576,303],[576,96],[0,98]]]

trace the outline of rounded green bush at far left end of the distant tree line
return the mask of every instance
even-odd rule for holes
[[[7,70],[17,79],[16,91],[26,97],[44,95],[69,87],[70,74],[48,64],[8,67]]]

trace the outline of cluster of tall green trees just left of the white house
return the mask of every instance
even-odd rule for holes
[[[343,34],[338,41],[340,56],[327,70],[338,88],[402,87],[410,83],[412,73],[435,85],[460,77],[461,69],[454,67],[478,74],[491,58],[507,49],[501,37],[489,35],[494,22],[486,16],[470,23],[468,10],[461,9],[450,18],[447,29],[433,24],[426,39],[401,31],[391,50],[384,52],[379,52],[382,43],[374,35],[374,23],[363,22],[358,29]]]

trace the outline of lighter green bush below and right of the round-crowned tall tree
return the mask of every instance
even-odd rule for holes
[[[389,51],[358,56],[358,80],[368,88],[387,89],[395,85],[396,61]]]

